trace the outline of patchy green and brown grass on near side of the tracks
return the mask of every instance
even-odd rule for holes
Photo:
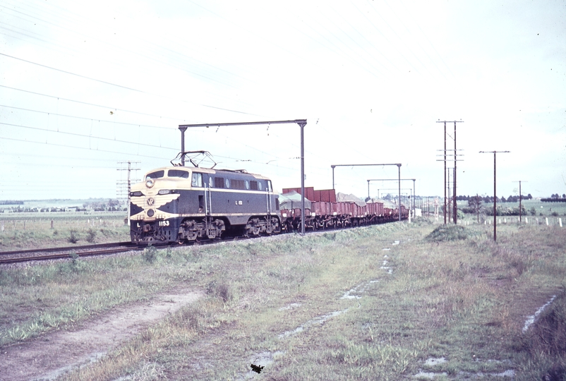
[[[501,226],[493,243],[486,226],[442,226],[427,238],[437,227],[417,220],[1,269],[1,342],[190,287],[207,296],[63,379],[235,380],[260,353],[272,363],[258,379],[270,380],[411,380],[420,370],[453,380],[510,369],[515,380],[540,380],[564,365],[556,343],[566,230]],[[522,334],[553,294],[560,298]],[[531,340],[535,332],[543,340]]]

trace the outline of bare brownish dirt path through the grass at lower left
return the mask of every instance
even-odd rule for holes
[[[53,380],[77,366],[96,361],[122,341],[203,293],[179,291],[152,301],[115,308],[72,332],[53,332],[0,353],[0,380]]]

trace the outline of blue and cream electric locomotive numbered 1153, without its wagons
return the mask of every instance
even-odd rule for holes
[[[162,167],[131,187],[133,243],[194,242],[281,231],[279,195],[243,170]]]

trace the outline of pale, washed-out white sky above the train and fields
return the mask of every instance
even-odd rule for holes
[[[116,198],[191,123],[215,168],[300,187],[297,124],[214,126],[295,119],[315,189],[397,194],[343,164],[399,163],[443,195],[458,121],[458,195],[493,195],[493,151],[498,197],[566,193],[564,0],[0,0],[0,68],[0,200]]]

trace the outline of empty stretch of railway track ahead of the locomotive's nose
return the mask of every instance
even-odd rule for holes
[[[99,243],[95,245],[72,246],[64,248],[39,248],[0,252],[0,265],[38,260],[55,260],[64,258],[92,257],[124,253],[131,250],[143,250],[145,246],[137,246],[131,242]]]

